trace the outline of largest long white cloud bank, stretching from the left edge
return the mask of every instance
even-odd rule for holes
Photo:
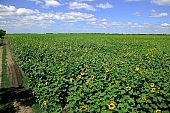
[[[6,28],[34,28],[39,26],[48,28],[50,25],[57,24],[57,21],[74,22],[92,22],[97,19],[93,14],[81,12],[49,12],[42,13],[39,10],[26,8],[16,8],[14,6],[5,6],[0,4],[0,27]],[[34,27],[33,27],[34,26]]]

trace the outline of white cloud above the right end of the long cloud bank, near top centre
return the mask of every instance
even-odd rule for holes
[[[85,9],[85,10],[91,10],[91,11],[96,11],[96,9],[88,5],[86,3],[80,3],[80,2],[70,2],[69,3],[69,9]]]

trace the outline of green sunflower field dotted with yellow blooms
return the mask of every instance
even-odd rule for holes
[[[169,36],[27,34],[8,39],[46,112],[170,112]]]

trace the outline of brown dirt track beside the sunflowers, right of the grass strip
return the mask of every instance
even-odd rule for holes
[[[13,89],[13,105],[16,113],[33,113],[32,108],[28,105],[28,92],[23,87],[23,76],[10,52],[9,42],[6,38],[7,51],[7,76]]]

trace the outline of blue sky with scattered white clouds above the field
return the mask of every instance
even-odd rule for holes
[[[170,0],[0,0],[0,29],[170,34]]]

